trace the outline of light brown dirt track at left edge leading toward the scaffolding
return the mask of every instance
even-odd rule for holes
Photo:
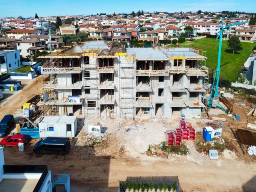
[[[6,101],[0,105],[0,119],[2,119],[6,114],[14,115],[17,109],[19,109],[24,104],[24,102],[37,94],[41,94],[42,90],[40,90],[40,88],[42,86],[42,80],[42,75],[34,78],[17,93],[8,97]]]

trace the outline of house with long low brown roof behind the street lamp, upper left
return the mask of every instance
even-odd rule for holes
[[[49,35],[24,35],[22,36],[22,39],[37,39],[41,41],[45,41],[48,49],[50,48],[50,38]],[[63,45],[63,37],[62,36],[56,36],[56,35],[51,35],[51,44],[52,44],[52,49],[58,49],[62,47]]]

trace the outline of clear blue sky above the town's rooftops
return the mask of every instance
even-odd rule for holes
[[[256,0],[0,0],[0,17],[149,12],[256,12]]]

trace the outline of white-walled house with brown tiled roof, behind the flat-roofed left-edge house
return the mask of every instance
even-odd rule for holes
[[[38,39],[25,39],[17,42],[17,50],[22,57],[32,56],[36,50],[45,50],[45,41]]]

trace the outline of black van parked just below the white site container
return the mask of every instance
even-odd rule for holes
[[[52,153],[63,155],[68,153],[70,149],[70,141],[67,137],[46,137],[38,141],[34,146],[34,152]]]

